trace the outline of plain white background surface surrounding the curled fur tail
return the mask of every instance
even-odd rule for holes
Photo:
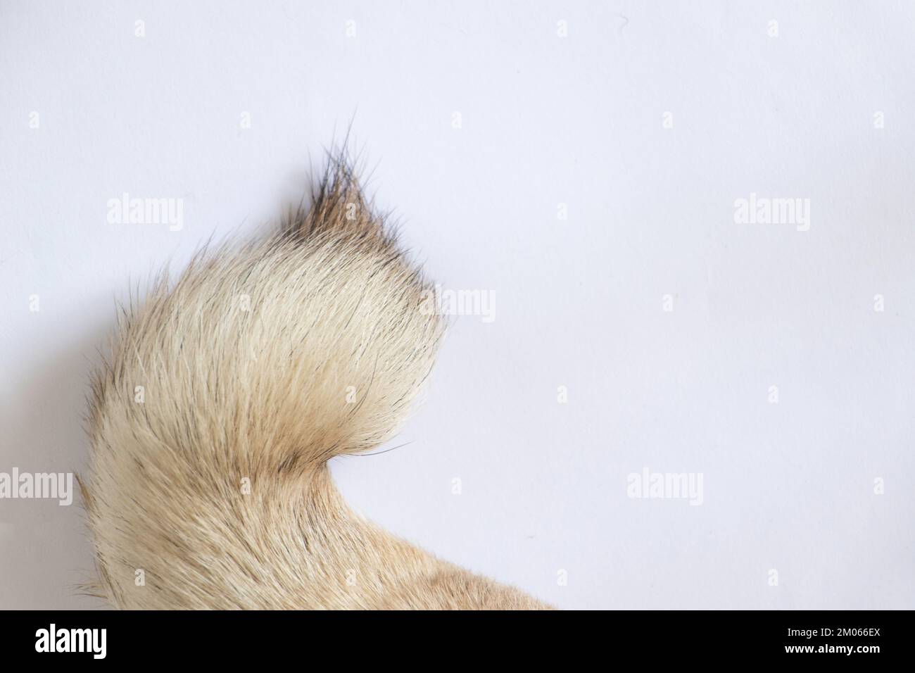
[[[274,220],[355,114],[496,320],[454,319],[412,443],[333,465],[350,502],[563,608],[915,607],[915,5],[767,5],[0,4],[0,472],[85,468],[128,279]],[[125,191],[181,231],[107,223]],[[645,466],[703,504],[629,498]],[[0,546],[0,607],[97,605],[78,505],[0,500]]]

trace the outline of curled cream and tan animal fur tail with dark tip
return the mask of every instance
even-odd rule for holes
[[[429,374],[428,288],[341,157],[281,233],[201,253],[124,309],[92,386],[92,592],[130,609],[547,607],[357,516],[330,478],[329,459],[392,436]]]

